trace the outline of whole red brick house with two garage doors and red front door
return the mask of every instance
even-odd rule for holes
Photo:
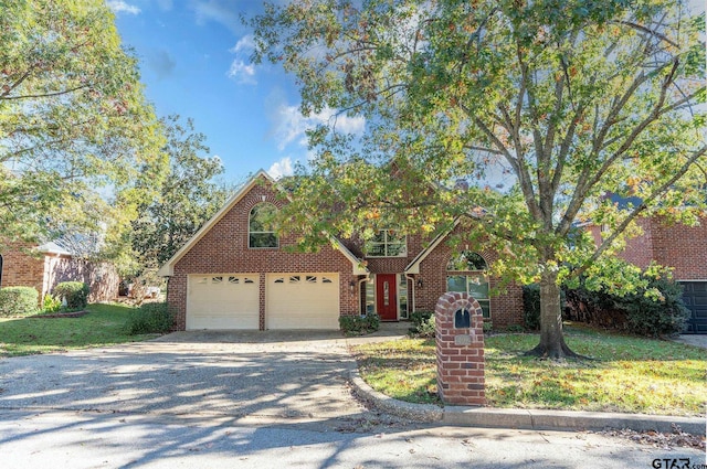
[[[267,223],[286,203],[278,191],[260,171],[160,268],[177,330],[338,329],[340,316],[367,312],[397,321],[434,310],[447,290],[472,294],[494,326],[523,323],[519,286],[488,298],[496,280],[484,270],[495,253],[467,245],[454,255],[445,236],[392,230],[369,243],[366,257],[351,239],[294,252],[286,247],[296,236],[278,237]]]

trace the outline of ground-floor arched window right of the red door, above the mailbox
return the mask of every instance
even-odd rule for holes
[[[488,298],[488,276],[486,260],[477,253],[464,251],[450,259],[446,265],[446,290],[468,294],[478,301],[484,318],[490,318],[490,299]],[[460,273],[460,274],[452,274]],[[464,273],[464,274],[461,274]]]

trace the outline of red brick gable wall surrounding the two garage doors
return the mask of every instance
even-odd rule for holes
[[[260,274],[260,326],[265,327],[265,277],[267,273],[338,273],[339,313],[359,313],[357,295],[350,294],[351,262],[338,249],[327,245],[317,253],[288,252],[296,236],[279,238],[278,248],[249,248],[249,215],[258,203],[282,207],[285,203],[267,183],[254,185],[208,233],[175,265],[169,279],[167,300],[176,315],[177,330],[186,329],[187,276],[190,274]]]

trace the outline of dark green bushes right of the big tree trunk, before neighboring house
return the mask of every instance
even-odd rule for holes
[[[571,318],[646,337],[680,333],[689,318],[683,287],[669,276],[643,274],[645,285],[634,292],[591,291],[584,285],[567,292]]]

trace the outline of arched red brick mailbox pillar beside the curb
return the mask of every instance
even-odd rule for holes
[[[484,317],[466,294],[447,292],[434,308],[437,392],[446,404],[484,405]]]

